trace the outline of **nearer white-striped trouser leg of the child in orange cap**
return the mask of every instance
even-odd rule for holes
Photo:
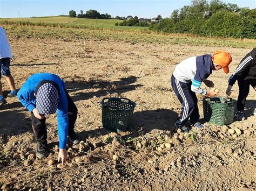
[[[184,125],[195,108],[195,103],[191,95],[191,83],[180,82],[174,76],[172,76],[171,83],[174,93],[182,104],[180,119],[176,123]]]

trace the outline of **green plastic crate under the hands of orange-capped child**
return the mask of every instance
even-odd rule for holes
[[[232,98],[204,98],[204,121],[216,125],[231,124],[234,122],[234,115],[237,110],[236,105],[236,101]]]

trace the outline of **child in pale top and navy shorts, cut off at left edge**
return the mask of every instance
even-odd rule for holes
[[[10,62],[12,58],[11,48],[8,43],[8,39],[6,36],[6,32],[3,27],[0,26],[0,79],[2,75],[5,76],[6,81],[8,82],[11,92],[8,94],[9,97],[15,97],[17,95],[17,91],[15,88],[14,78],[10,72]],[[6,100],[3,96],[3,88],[2,82],[0,80],[0,105],[6,104]]]

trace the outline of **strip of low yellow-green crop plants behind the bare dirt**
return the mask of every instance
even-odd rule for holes
[[[113,29],[67,29],[46,26],[3,25],[12,38],[72,39],[124,41],[125,43],[160,43],[212,47],[253,48],[255,39],[206,38],[184,34],[160,34],[151,31],[117,31]]]

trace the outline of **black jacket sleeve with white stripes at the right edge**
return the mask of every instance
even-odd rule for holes
[[[228,79],[228,84],[233,86],[235,81],[237,81],[238,77],[242,77],[244,72],[250,67],[253,63],[253,58],[251,55],[246,56],[241,60],[237,69],[234,70],[234,73]]]

